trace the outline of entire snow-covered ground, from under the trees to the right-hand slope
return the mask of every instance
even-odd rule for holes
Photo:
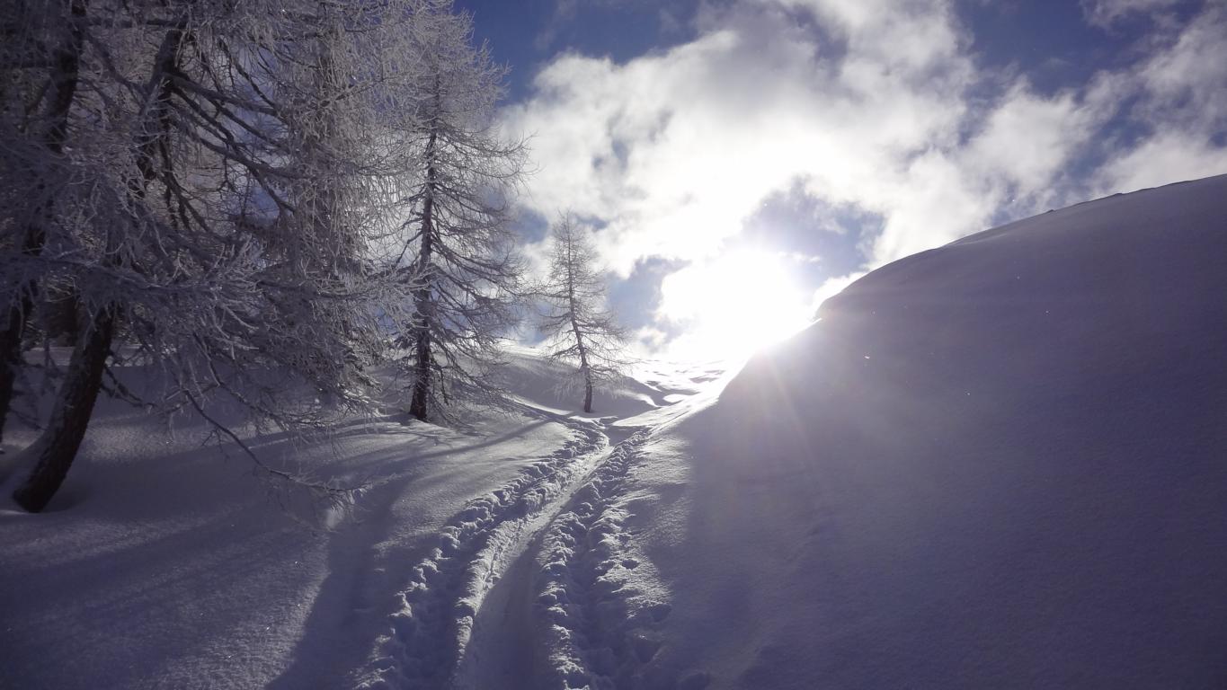
[[[0,688],[1227,686],[1225,257],[1220,176],[886,266],[726,386],[582,415],[515,351],[471,429],[254,439],[352,516],[107,401],[0,510]]]

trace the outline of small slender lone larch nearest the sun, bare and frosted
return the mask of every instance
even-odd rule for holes
[[[540,327],[550,359],[578,366],[584,412],[591,412],[593,389],[631,363],[627,335],[605,309],[605,281],[596,270],[596,250],[569,213],[560,216],[551,239],[550,272],[539,295],[546,305]]]

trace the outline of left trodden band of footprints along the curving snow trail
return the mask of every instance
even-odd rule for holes
[[[439,534],[439,545],[413,569],[401,609],[380,640],[373,677],[360,688],[444,688],[472,634],[474,618],[530,523],[607,449],[598,425],[563,419],[572,440],[496,491],[469,501]],[[585,460],[588,462],[585,462]]]

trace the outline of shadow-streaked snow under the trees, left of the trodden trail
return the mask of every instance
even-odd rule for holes
[[[555,374],[520,382],[542,390]],[[171,434],[101,401],[49,509],[0,501],[0,688],[352,686],[415,564],[467,525],[458,514],[493,491],[523,512],[520,494],[574,472],[561,453],[593,435],[531,409],[472,411],[469,423],[350,419],[315,444],[249,436],[275,466],[366,483],[337,521],[294,491],[267,493],[233,449],[201,447],[200,424]],[[11,431],[18,446],[33,438]],[[0,469],[16,460],[0,456]]]

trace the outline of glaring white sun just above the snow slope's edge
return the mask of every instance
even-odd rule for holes
[[[812,295],[779,254],[739,249],[665,277],[660,315],[683,330],[679,349],[736,358],[778,342],[811,322]]]

